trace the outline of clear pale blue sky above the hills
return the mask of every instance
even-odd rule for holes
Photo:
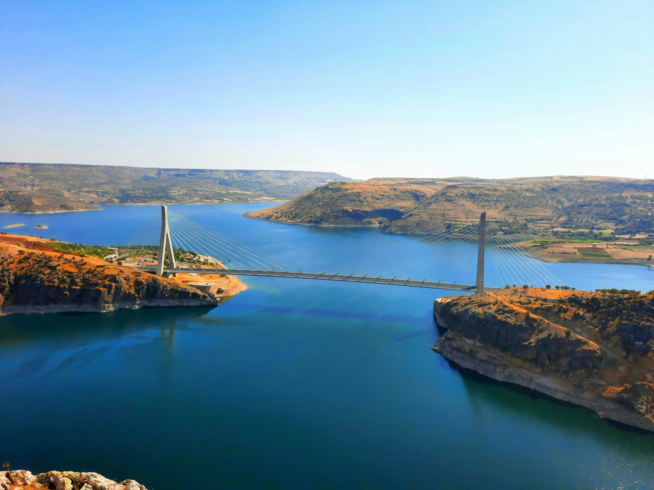
[[[0,160],[654,177],[654,2],[0,0]]]

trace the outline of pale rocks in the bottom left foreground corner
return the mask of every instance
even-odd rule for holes
[[[48,471],[37,476],[26,470],[0,472],[1,490],[147,490],[134,480],[116,483],[97,473]]]

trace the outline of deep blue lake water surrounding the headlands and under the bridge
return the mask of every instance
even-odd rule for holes
[[[419,237],[241,218],[262,207],[170,209],[301,270],[390,271],[419,250],[432,253],[417,271],[429,279],[474,282],[474,244],[425,249]],[[12,231],[85,244],[156,242],[158,213],[4,214],[0,227],[25,223]],[[654,289],[649,267],[544,267],[581,289]],[[431,351],[432,302],[451,293],[244,280],[247,291],[216,308],[1,318],[0,459],[156,490],[654,486],[654,434],[462,372]],[[487,284],[499,280],[489,265]]]

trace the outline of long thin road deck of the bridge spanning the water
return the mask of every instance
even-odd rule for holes
[[[136,269],[145,272],[156,272],[156,265],[145,265]],[[448,284],[445,282],[426,282],[412,281],[410,279],[396,278],[375,278],[368,276],[341,276],[339,274],[313,274],[311,272],[287,272],[279,270],[249,270],[249,269],[213,269],[210,267],[193,268],[193,267],[173,267],[163,269],[164,273],[175,274],[229,274],[230,276],[265,276],[265,277],[286,277],[296,279],[315,279],[324,281],[341,281],[341,282],[364,282],[366,284],[388,284],[389,286],[409,286],[409,287],[426,287],[428,289],[447,289],[449,291],[466,291],[474,293],[477,291],[475,286],[466,286],[465,284]],[[484,291],[495,291],[498,287],[484,287]]]

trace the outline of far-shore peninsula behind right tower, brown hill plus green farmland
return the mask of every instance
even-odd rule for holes
[[[324,184],[243,216],[429,235],[474,225],[486,212],[498,235],[521,242],[542,261],[650,265],[652,182],[598,176],[373,178]]]

